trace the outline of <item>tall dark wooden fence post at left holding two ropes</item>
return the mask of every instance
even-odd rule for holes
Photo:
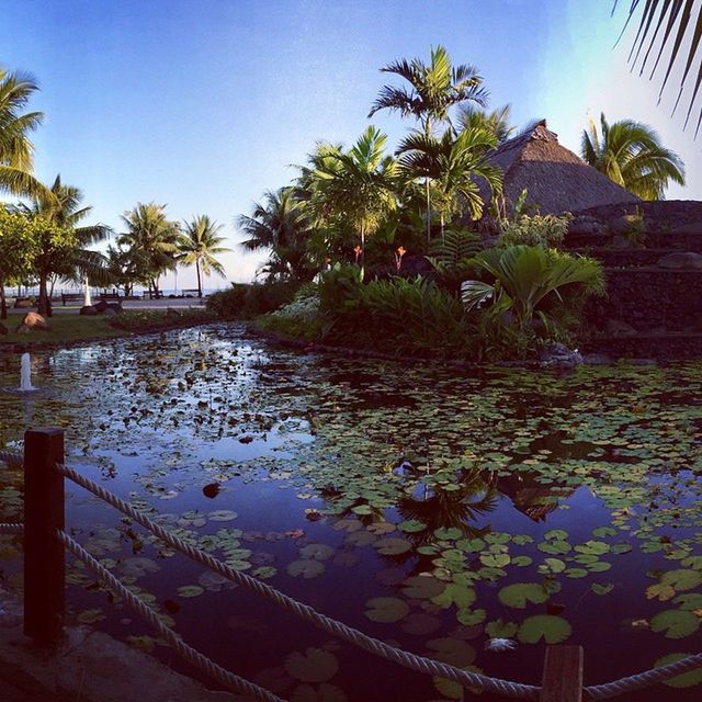
[[[24,633],[37,643],[57,641],[64,627],[64,430],[24,433]]]

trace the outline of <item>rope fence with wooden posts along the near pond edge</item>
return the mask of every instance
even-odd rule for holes
[[[63,529],[63,478],[68,478],[84,488],[95,497],[101,500],[107,502],[115,509],[117,509],[123,514],[129,517],[135,522],[140,524],[143,528],[147,529],[155,535],[157,535],[161,541],[166,544],[181,552],[192,561],[200,563],[206,568],[219,574],[220,576],[231,580],[236,585],[239,585],[257,595],[267,598],[268,600],[274,602],[281,609],[295,614],[296,616],[313,623],[317,627],[322,631],[330,633],[335,636],[338,636],[354,646],[362,648],[366,652],[370,652],[385,660],[389,660],[399,666],[408,668],[410,670],[439,677],[445,678],[448,680],[452,680],[454,682],[460,683],[464,688],[469,688],[473,690],[492,692],[495,694],[499,694],[506,698],[520,699],[520,700],[535,700],[535,701],[546,701],[546,700],[565,700],[565,697],[555,697],[555,690],[563,690],[563,680],[557,680],[558,676],[570,676],[573,673],[573,678],[577,679],[577,689],[575,687],[568,688],[574,694],[568,697],[568,700],[609,700],[614,697],[619,697],[621,694],[632,692],[635,690],[642,690],[644,688],[650,687],[653,684],[664,682],[669,680],[670,678],[675,678],[684,672],[689,672],[695,668],[702,667],[702,654],[688,656],[681,660],[676,663],[668,664],[666,666],[659,666],[657,668],[653,668],[650,670],[646,670],[644,672],[639,672],[633,676],[629,676],[622,678],[620,680],[615,680],[613,682],[598,684],[598,686],[589,686],[582,687],[581,684],[581,649],[575,646],[562,646],[562,647],[551,647],[555,650],[562,649],[573,649],[567,652],[566,660],[568,657],[569,663],[566,661],[565,665],[562,663],[556,664],[556,668],[554,670],[548,669],[548,656],[546,657],[546,667],[544,669],[544,680],[541,687],[523,684],[513,682],[510,680],[503,680],[500,678],[492,678],[489,676],[485,676],[477,672],[472,672],[468,670],[462,670],[461,668],[456,668],[449,664],[444,664],[432,658],[427,658],[424,656],[419,656],[417,654],[409,653],[407,650],[403,650],[395,646],[390,646],[377,638],[369,636],[363,632],[348,626],[342,622],[339,622],[326,614],[322,614],[315,610],[314,608],[299,602],[287,595],[284,595],[280,590],[258,580],[246,573],[241,573],[229,567],[222,561],[211,556],[204,551],[192,546],[186,543],[179,536],[176,536],[167,529],[163,529],[160,524],[156,523],[154,520],[148,518],[146,514],[139,512],[132,505],[117,497],[116,495],[104,489],[102,486],[98,485],[93,480],[87,478],[86,476],[78,473],[75,468],[67,466],[63,463],[63,432],[60,430],[45,430],[44,433],[42,431],[27,431],[25,435],[25,458],[23,461],[23,456],[19,453],[0,450],[0,461],[4,461],[9,465],[13,467],[22,466],[24,462],[25,467],[25,512],[27,512],[29,508],[26,507],[26,502],[29,499],[29,489],[26,485],[29,485],[29,475],[30,469],[32,467],[32,456],[34,456],[34,461],[36,462],[36,449],[32,449],[32,451],[27,451],[29,440],[31,434],[37,434],[39,438],[45,440],[46,446],[54,446],[53,453],[55,454],[53,457],[50,455],[42,455],[42,460],[38,461],[39,464],[44,465],[45,477],[48,477],[49,474],[53,474],[56,478],[60,479],[61,489],[60,489],[60,500],[61,500],[61,513],[60,519],[55,519],[54,523],[47,523],[43,525],[43,534],[44,537],[47,535],[50,537],[54,544],[57,546],[60,545],[60,554],[61,554],[61,570],[63,570],[63,553],[64,548],[72,553],[77,558],[82,561],[97,576],[98,578],[106,585],[109,589],[111,589],[114,593],[123,598],[132,608],[144,616],[160,634],[161,636],[174,648],[174,650],[181,655],[185,660],[195,665],[201,670],[210,675],[212,678],[224,684],[225,687],[234,690],[235,692],[246,694],[253,700],[260,702],[283,702],[281,698],[278,698],[273,693],[233,673],[229,670],[226,670],[222,666],[217,665],[196,649],[192,648],[182,639],[182,637],[172,631],[169,626],[167,626],[160,619],[159,613],[146,604],[143,600],[140,600],[137,596],[131,592],[110,570],[107,570],[102,564],[100,564],[90,553],[88,553],[80,544],[78,544],[73,539],[71,539]],[[52,443],[53,442],[53,443]],[[52,453],[50,449],[48,453]],[[30,457],[26,457],[30,456]],[[60,477],[59,477],[60,476]],[[45,491],[46,488],[45,488]],[[50,522],[52,520],[46,520]],[[0,523],[0,534],[25,534],[25,563],[29,556],[27,548],[27,540],[29,540],[29,521],[26,522],[27,526],[23,524],[9,524],[9,523]],[[25,570],[26,573],[26,570]],[[61,573],[63,579],[63,573]],[[26,584],[25,578],[25,584]],[[25,619],[27,612],[27,595],[25,591]],[[61,612],[63,619],[63,612]],[[26,632],[26,625],[25,625]],[[27,632],[29,633],[29,632]],[[32,634],[30,634],[32,635]],[[578,650],[578,656],[575,658],[571,654],[575,654],[575,649]],[[557,659],[557,657],[554,657]],[[558,659],[559,660],[559,659]],[[574,663],[575,661],[575,663]],[[575,666],[575,667],[574,667]],[[579,668],[579,670],[576,670]],[[569,672],[564,672],[564,671]],[[550,678],[555,678],[552,682],[548,682]],[[555,682],[554,682],[555,681]],[[553,686],[553,687],[550,687]],[[551,690],[548,692],[547,688]],[[561,693],[562,694],[562,693]],[[582,697],[585,695],[585,697]]]

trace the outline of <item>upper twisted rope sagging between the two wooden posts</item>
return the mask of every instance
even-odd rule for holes
[[[340,638],[343,638],[344,641],[348,641],[355,646],[359,646],[360,648],[375,654],[376,656],[381,656],[386,660],[390,660],[400,666],[404,666],[405,668],[409,668],[410,670],[416,670],[418,672],[423,672],[440,678],[448,678],[449,680],[458,682],[466,688],[485,690],[508,698],[517,698],[521,700],[539,700],[540,688],[535,686],[521,684],[518,682],[512,682],[510,680],[490,678],[488,676],[471,672],[468,670],[461,670],[460,668],[456,668],[454,666],[450,666],[431,658],[426,658],[423,656],[418,656],[417,654],[411,654],[406,650],[395,648],[394,646],[388,646],[382,641],[373,638],[367,634],[363,634],[356,629],[352,629],[350,626],[347,626],[346,624],[342,624],[341,622],[338,622],[337,620],[326,616],[325,614],[320,614],[314,608],[307,604],[303,604],[302,602],[298,602],[297,600],[283,595],[283,592],[280,592],[275,588],[272,588],[270,585],[265,585],[264,582],[261,582],[260,580],[257,580],[256,578],[252,578],[245,573],[234,570],[217,558],[214,558],[210,554],[191,546],[178,536],[172,535],[166,529],[151,521],[148,517],[145,517],[139,511],[134,509],[134,507],[125,502],[123,499],[105,490],[103,487],[93,483],[89,478],[86,478],[73,468],[63,464],[57,464],[56,468],[61,475],[70,478],[97,497],[112,505],[115,509],[120,510],[124,514],[127,514],[128,517],[134,519],[134,521],[141,524],[141,526],[150,530],[167,544],[169,544],[173,548],[177,548],[178,551],[181,551],[193,561],[202,564],[207,568],[211,568],[215,573],[218,573],[225,578],[233,580],[237,585],[253,590],[257,595],[272,600],[284,610],[287,610],[288,612],[292,612],[293,614],[296,614],[297,616],[312,622],[324,631],[339,636]]]

